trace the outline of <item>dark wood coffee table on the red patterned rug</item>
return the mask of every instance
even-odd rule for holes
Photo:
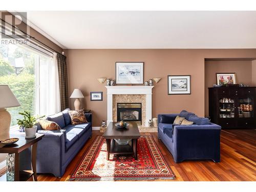
[[[106,158],[109,160],[110,154],[133,154],[135,160],[137,160],[137,139],[140,138],[140,132],[137,123],[129,121],[129,126],[127,126],[126,129],[120,129],[116,127],[115,123],[117,122],[109,123],[105,133],[103,134],[103,137],[106,139]],[[119,145],[114,139],[132,139],[132,146],[130,144]]]

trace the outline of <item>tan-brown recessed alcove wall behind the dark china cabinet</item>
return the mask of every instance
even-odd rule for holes
[[[208,89],[216,83],[216,73],[236,73],[237,83],[252,86],[251,60],[245,61],[205,61],[205,115],[209,114]]]

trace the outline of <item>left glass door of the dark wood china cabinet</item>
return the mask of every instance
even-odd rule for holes
[[[234,99],[222,97],[219,102],[220,118],[234,118]]]

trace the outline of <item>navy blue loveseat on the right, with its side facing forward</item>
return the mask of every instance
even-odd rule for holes
[[[174,125],[177,115],[194,124]],[[220,162],[220,131],[221,126],[184,110],[180,114],[158,115],[158,138],[168,148],[176,163],[186,159]]]

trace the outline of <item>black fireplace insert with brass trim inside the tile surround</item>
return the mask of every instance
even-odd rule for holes
[[[141,103],[117,103],[117,121],[135,121],[141,125]]]

